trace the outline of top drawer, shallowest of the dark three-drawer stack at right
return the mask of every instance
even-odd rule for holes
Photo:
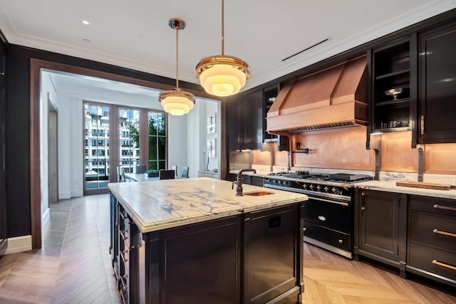
[[[410,196],[410,211],[418,210],[456,217],[455,199],[436,199],[427,196]]]

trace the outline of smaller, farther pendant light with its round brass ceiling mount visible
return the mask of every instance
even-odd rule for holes
[[[195,96],[179,88],[179,30],[185,28],[185,21],[173,18],[168,21],[168,25],[176,30],[176,88],[162,91],[158,95],[158,101],[162,104],[165,112],[182,116],[190,112],[195,105]]]

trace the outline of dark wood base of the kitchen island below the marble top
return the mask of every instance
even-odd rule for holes
[[[143,233],[111,193],[110,252],[123,302],[301,303],[302,205]]]

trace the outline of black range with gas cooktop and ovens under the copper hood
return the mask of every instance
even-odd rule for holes
[[[271,173],[264,187],[304,193],[304,241],[353,258],[353,184],[364,174]]]

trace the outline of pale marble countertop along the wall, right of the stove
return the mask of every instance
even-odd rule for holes
[[[396,186],[395,181],[368,181],[356,183],[357,188],[380,190],[385,192],[395,192],[403,194],[415,194],[423,196],[440,197],[443,199],[456,199],[456,189],[451,190],[437,190],[437,189],[423,189],[415,187],[401,187]]]

